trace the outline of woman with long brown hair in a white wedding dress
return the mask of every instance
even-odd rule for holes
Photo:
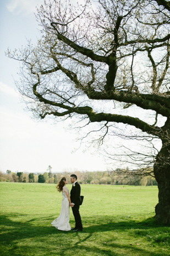
[[[66,186],[68,184],[68,181],[65,177],[62,177],[61,181],[59,181],[57,187],[57,190],[59,192],[62,191],[63,200],[62,200],[62,208],[61,213],[58,218],[56,218],[51,224],[53,227],[58,228],[59,230],[63,231],[70,231],[71,226],[69,223],[70,219],[70,196],[69,196],[69,190]]]

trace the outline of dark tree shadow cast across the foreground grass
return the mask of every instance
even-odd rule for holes
[[[10,217],[19,219],[20,216],[21,215],[19,214],[15,214]],[[23,241],[23,239],[30,239],[30,241],[32,241],[31,239],[33,238],[34,241],[39,242],[37,245],[40,250],[39,255],[67,256],[72,255],[74,250],[74,254],[76,253],[77,255],[121,256],[125,255],[124,253],[122,253],[122,250],[126,250],[126,255],[162,256],[162,252],[150,252],[147,249],[139,248],[139,246],[136,244],[120,244],[116,241],[113,241],[114,236],[112,236],[110,241],[107,241],[107,243],[100,242],[95,244],[94,241],[92,241],[92,237],[94,236],[94,234],[102,232],[109,232],[108,236],[110,236],[111,233],[114,234],[114,232],[119,232],[120,234],[122,234],[123,232],[129,232],[129,236],[131,233],[131,236],[133,236],[133,238],[135,237],[136,240],[138,240],[139,237],[146,238],[148,234],[150,234],[151,237],[152,234],[160,232],[161,229],[162,232],[163,229],[167,232],[168,227],[163,227],[162,225],[158,224],[155,218],[149,218],[148,220],[142,222],[135,222],[133,220],[106,222],[106,216],[105,220],[103,220],[103,216],[97,216],[97,218],[99,224],[90,224],[92,222],[91,218],[89,218],[88,224],[88,218],[86,218],[86,227],[84,228],[84,231],[81,233],[74,233],[72,231],[58,231],[58,229],[52,227],[51,222],[53,220],[53,216],[48,216],[46,218],[34,218],[27,222],[12,221],[7,216],[0,216],[0,224],[2,225],[2,234],[0,234],[0,241],[2,241],[3,248],[6,246],[8,247],[8,250],[6,250],[6,252],[3,252],[3,255],[36,255],[35,252],[33,254],[31,252],[31,242],[30,246],[23,246],[20,243],[21,241]],[[34,222],[40,222],[40,224],[42,224],[43,221],[45,221],[45,223],[48,223],[49,226],[45,226],[44,224],[43,226],[35,226],[34,224]],[[103,223],[101,223],[102,221]],[[49,243],[47,241],[47,237]],[[62,244],[63,242],[64,246],[57,247],[56,241],[50,241],[51,237],[53,237],[53,239],[57,239],[57,237],[59,237],[60,243]],[[148,239],[150,239],[150,237],[148,237]],[[10,248],[9,245],[12,245],[12,247]],[[98,248],[99,246],[100,249]],[[34,249],[36,250],[36,245],[34,245],[34,247]],[[58,253],[56,253],[55,248],[58,248]],[[119,249],[120,253],[114,252],[114,250],[116,249]]]

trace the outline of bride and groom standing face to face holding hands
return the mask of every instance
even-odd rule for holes
[[[57,185],[57,190],[59,192],[62,191],[63,200],[62,200],[62,208],[61,213],[56,220],[54,220],[51,224],[52,226],[58,228],[63,231],[70,231],[73,229],[74,232],[83,231],[83,226],[81,223],[81,217],[79,208],[83,202],[83,196],[80,196],[80,185],[77,182],[77,176],[75,174],[70,175],[70,181],[72,182],[72,190],[70,191],[67,188],[68,181],[65,177],[62,177],[61,181],[59,181]],[[72,207],[74,219],[75,219],[75,227],[70,227],[70,208]]]

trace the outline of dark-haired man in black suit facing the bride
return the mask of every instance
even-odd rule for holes
[[[81,223],[81,217],[80,217],[80,212],[79,208],[81,205],[81,197],[80,197],[80,185],[78,184],[77,181],[77,176],[75,174],[70,175],[70,181],[72,182],[72,190],[70,191],[70,198],[72,203],[70,203],[70,206],[72,207],[73,215],[75,218],[75,228],[73,228],[74,232],[79,232],[83,231],[83,226]]]

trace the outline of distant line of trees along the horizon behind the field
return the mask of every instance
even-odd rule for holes
[[[50,166],[51,167],[51,166]],[[6,174],[0,172],[0,181],[6,182],[39,182],[39,183],[51,183],[57,184],[61,177],[66,177],[68,183],[70,183],[70,175],[75,173],[78,176],[80,184],[108,184],[108,185],[138,185],[138,186],[154,186],[157,185],[155,177],[151,175],[127,175],[126,170],[116,169],[114,171],[77,171],[72,172],[63,171],[63,173],[51,173],[51,169],[47,169],[49,172],[45,173],[14,173],[7,170]],[[121,173],[121,174],[120,174]]]

